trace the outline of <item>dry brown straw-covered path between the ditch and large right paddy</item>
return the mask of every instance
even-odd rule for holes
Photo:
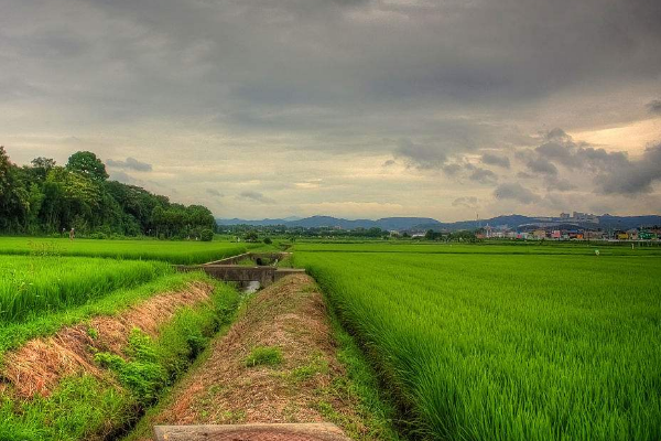
[[[247,363],[256,347],[267,355]],[[379,439],[365,424],[358,398],[342,387],[346,373],[336,349],[314,280],[290,276],[248,302],[132,439],[151,440],[154,424],[278,422],[339,422],[357,439]]]

